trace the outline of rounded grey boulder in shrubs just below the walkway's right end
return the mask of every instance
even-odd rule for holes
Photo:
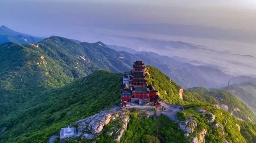
[[[186,133],[193,133],[194,129],[196,128],[197,123],[193,118],[189,118],[185,121],[180,121],[179,127],[182,131]]]

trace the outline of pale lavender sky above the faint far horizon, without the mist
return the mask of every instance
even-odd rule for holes
[[[0,24],[47,37],[98,23],[256,29],[255,15],[255,0],[1,0]]]

